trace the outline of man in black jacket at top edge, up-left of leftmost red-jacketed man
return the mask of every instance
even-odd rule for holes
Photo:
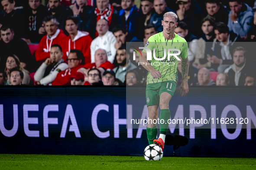
[[[43,35],[39,35],[38,31],[42,26],[47,8],[42,5],[42,0],[29,0],[29,5],[26,8],[26,17],[29,21],[29,40],[39,43]]]

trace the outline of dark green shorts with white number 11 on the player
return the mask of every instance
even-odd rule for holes
[[[156,105],[159,106],[160,95],[162,92],[167,92],[173,96],[176,88],[176,82],[166,81],[159,83],[150,83],[146,86],[146,102],[147,107]]]

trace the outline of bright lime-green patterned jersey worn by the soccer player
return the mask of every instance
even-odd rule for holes
[[[160,79],[153,79],[151,76],[151,73],[148,72],[147,76],[147,84],[149,83],[158,83],[158,82],[165,82],[172,80],[174,82],[177,82],[178,79],[178,72],[177,72],[177,66],[178,66],[178,60],[174,56],[170,56],[170,60],[168,60],[168,50],[167,49],[179,49],[181,51],[181,54],[177,55],[179,58],[185,59],[188,57],[188,44],[187,41],[184,38],[181,38],[177,34],[175,34],[175,37],[172,40],[166,40],[163,32],[160,32],[158,34],[152,35],[147,43],[146,46],[148,47],[152,52],[152,60],[149,60],[149,63],[152,65],[152,67],[156,70],[158,70],[161,73]],[[163,58],[164,57],[164,50],[166,51],[166,56],[164,60],[156,60],[153,57],[153,49],[156,49],[156,58]],[[144,49],[142,52],[146,53],[146,50]],[[178,51],[171,50],[172,54],[178,53]]]

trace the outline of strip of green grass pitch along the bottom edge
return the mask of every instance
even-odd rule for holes
[[[255,158],[0,154],[0,170],[256,170]]]

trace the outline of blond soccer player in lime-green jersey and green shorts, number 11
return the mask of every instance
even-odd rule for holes
[[[182,70],[182,83],[179,91],[181,91],[181,95],[183,93],[183,96],[186,96],[188,93],[188,44],[184,38],[181,38],[174,32],[175,27],[178,25],[177,18],[177,15],[173,12],[165,13],[162,20],[163,31],[156,35],[152,35],[148,39],[145,47],[148,47],[151,51],[156,49],[156,58],[158,59],[163,58],[163,52],[161,53],[161,50],[163,49],[164,44],[166,44],[166,50],[168,48],[180,50],[180,55],[177,55],[177,58],[181,56]],[[171,51],[171,53],[174,53],[174,51]],[[162,149],[164,148],[165,135],[169,125],[168,120],[170,119],[169,101],[174,94],[178,79],[178,59],[174,56],[171,57],[171,60],[165,60],[165,64],[163,60],[159,61],[153,57],[149,63],[147,61],[146,49],[144,49],[142,57],[139,58],[140,62],[147,63],[142,65],[149,71],[146,80],[146,102],[149,111],[149,122],[146,131],[149,145],[154,143],[159,145]],[[159,65],[158,62],[161,64]],[[158,107],[161,109],[159,119],[164,120],[164,123],[161,123],[160,121],[160,135],[159,139],[156,139],[157,126],[150,120],[158,119]]]

